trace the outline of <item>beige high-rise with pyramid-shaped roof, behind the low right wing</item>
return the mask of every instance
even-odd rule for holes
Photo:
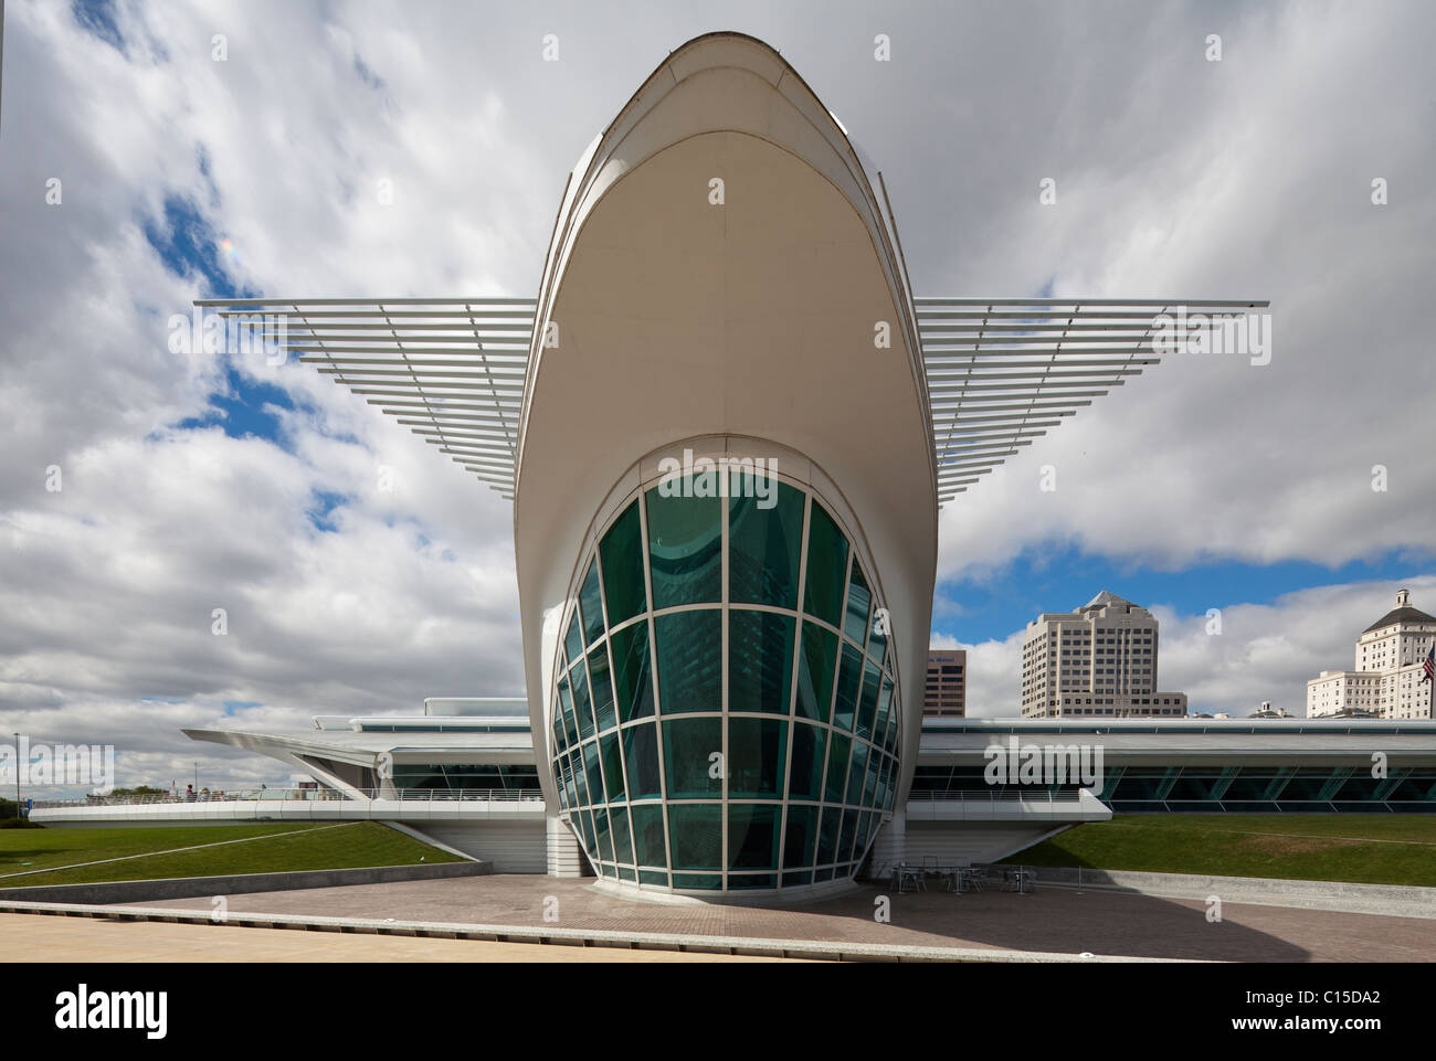
[[[1043,613],[1022,640],[1022,716],[1185,716],[1185,692],[1157,692],[1157,643],[1153,614],[1107,590]]]

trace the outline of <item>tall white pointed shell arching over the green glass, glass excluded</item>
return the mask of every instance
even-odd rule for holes
[[[902,805],[936,567],[931,432],[896,233],[837,119],[758,40],[718,33],[673,52],[580,159],[543,274],[514,495],[536,748],[606,501],[684,439],[770,445],[837,494],[872,558],[903,705]],[[557,807],[549,757],[536,758]]]

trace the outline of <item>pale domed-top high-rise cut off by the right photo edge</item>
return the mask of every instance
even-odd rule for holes
[[[1410,590],[1399,590],[1396,607],[1356,639],[1356,669],[1323,670],[1307,682],[1307,718],[1432,718],[1432,683],[1422,663],[1433,640],[1436,617],[1412,607]]]

